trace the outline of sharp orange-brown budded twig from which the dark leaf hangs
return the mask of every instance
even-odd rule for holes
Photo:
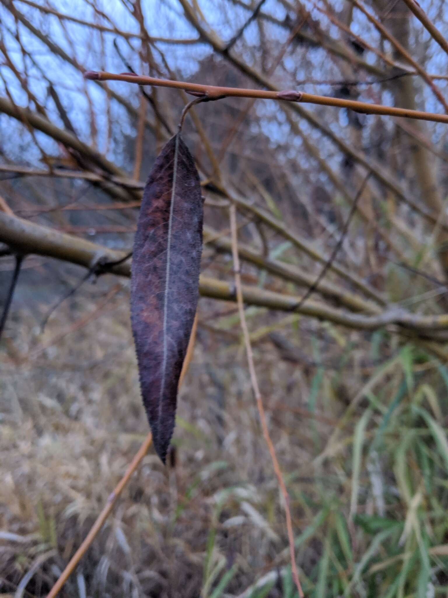
[[[114,74],[105,71],[86,71],[86,79],[93,81],[126,81],[138,85],[153,85],[156,87],[171,87],[172,89],[183,89],[195,94],[200,93],[209,99],[217,97],[255,97],[266,100],[286,100],[288,102],[311,103],[321,106],[335,106],[336,108],[348,108],[355,112],[364,114],[382,114],[385,116],[397,116],[415,118],[416,120],[428,120],[435,123],[447,123],[448,114],[435,114],[420,110],[409,110],[407,108],[394,108],[393,106],[382,106],[381,104],[370,104],[356,100],[346,100],[339,97],[316,96],[304,91],[284,90],[270,91],[263,89],[240,89],[239,87],[216,87],[212,85],[201,85],[198,83],[186,83],[185,81],[169,81],[155,77],[145,77],[133,74]]]

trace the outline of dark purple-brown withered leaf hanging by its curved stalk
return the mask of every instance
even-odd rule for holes
[[[140,388],[162,462],[173,435],[177,385],[198,303],[202,213],[198,171],[177,133],[146,183],[131,277]]]

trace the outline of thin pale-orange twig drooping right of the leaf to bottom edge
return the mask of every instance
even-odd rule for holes
[[[235,205],[230,206],[230,225],[232,230],[232,254],[234,260],[235,269],[235,288],[237,291],[237,302],[238,312],[240,312],[241,328],[243,329],[244,344],[246,344],[247,362],[250,372],[250,380],[252,389],[257,402],[257,409],[260,416],[260,423],[263,430],[263,437],[265,438],[266,445],[268,446],[269,454],[271,455],[272,465],[274,466],[275,475],[278,480],[278,486],[280,486],[281,493],[284,499],[284,509],[286,513],[286,527],[288,531],[289,551],[291,558],[291,570],[294,578],[294,582],[297,586],[300,598],[304,598],[302,585],[300,585],[299,573],[297,572],[296,557],[294,554],[294,535],[293,526],[291,520],[291,511],[289,508],[289,495],[286,489],[283,475],[281,474],[280,465],[275,454],[274,444],[272,443],[271,436],[269,435],[268,424],[266,423],[265,408],[263,407],[263,400],[258,386],[257,375],[253,362],[253,353],[250,343],[249,331],[247,328],[246,315],[244,314],[244,303],[243,303],[243,290],[241,288],[241,274],[240,274],[240,260],[238,258],[238,239],[237,239],[237,209]]]

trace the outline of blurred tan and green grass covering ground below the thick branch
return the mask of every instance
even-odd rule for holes
[[[84,288],[43,335],[29,310],[11,314],[0,383],[4,593],[47,593],[148,430],[127,282],[103,315],[17,361],[94,310],[115,283]],[[200,302],[176,466],[145,458],[62,596],[294,596],[280,494],[228,312]],[[444,595],[446,370],[386,334],[318,332],[309,320],[252,308],[247,319],[305,595]],[[300,338],[308,359],[327,367],[281,360],[272,329]]]

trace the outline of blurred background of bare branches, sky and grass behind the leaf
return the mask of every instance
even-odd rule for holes
[[[447,112],[446,48],[409,5],[1,0],[0,304],[27,254],[0,345],[1,594],[48,593],[148,432],[128,279],[79,286],[79,264],[130,250],[191,98],[82,72]],[[446,3],[421,8],[444,35]],[[196,106],[183,136],[204,188],[202,274],[229,301],[202,279],[176,463],[145,457],[60,595],[297,595],[232,302],[235,202],[305,596],[448,596],[446,125],[233,98]],[[294,310],[370,171],[332,268]],[[97,245],[75,260],[42,227]]]

